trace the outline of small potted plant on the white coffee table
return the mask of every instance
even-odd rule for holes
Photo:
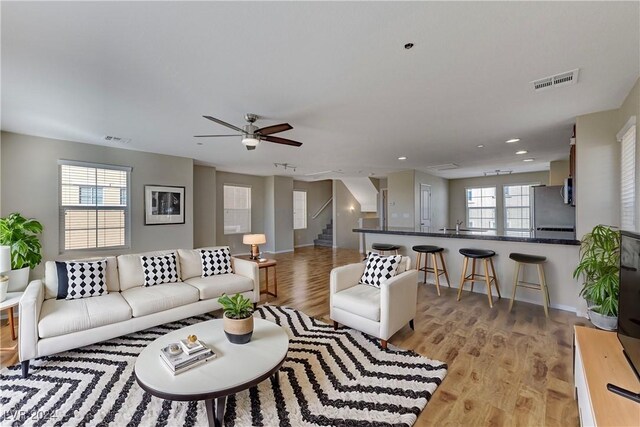
[[[233,344],[246,344],[253,334],[253,303],[240,294],[222,294],[218,302],[224,310],[223,326],[227,339]]]

